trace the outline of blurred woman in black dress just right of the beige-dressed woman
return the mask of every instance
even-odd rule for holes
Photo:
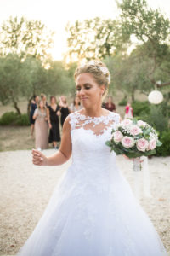
[[[50,104],[48,105],[48,142],[53,143],[53,146],[56,149],[59,148],[58,143],[60,142],[59,114],[59,106],[57,105],[56,97],[50,96]]]

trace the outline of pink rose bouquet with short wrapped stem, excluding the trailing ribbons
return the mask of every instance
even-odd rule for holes
[[[111,140],[106,145],[116,154],[133,158],[133,170],[140,170],[140,156],[156,154],[161,146],[156,130],[149,124],[137,119],[124,119],[111,131]]]

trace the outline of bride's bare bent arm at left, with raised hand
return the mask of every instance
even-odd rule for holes
[[[65,119],[59,151],[52,156],[45,156],[42,152],[32,149],[32,162],[37,166],[59,166],[71,157],[71,125],[70,117]]]

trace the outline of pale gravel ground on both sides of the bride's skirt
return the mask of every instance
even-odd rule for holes
[[[54,149],[44,150],[46,155],[54,152]],[[134,191],[132,161],[118,156],[116,162]],[[0,153],[0,255],[18,252],[70,164],[71,160],[63,166],[33,166],[30,150]],[[141,190],[140,203],[170,251],[170,157],[154,157],[149,160],[149,167],[152,197],[144,197]]]

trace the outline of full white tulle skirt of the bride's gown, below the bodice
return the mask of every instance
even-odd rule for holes
[[[18,256],[167,255],[150,218],[119,173],[91,183],[61,177]]]

